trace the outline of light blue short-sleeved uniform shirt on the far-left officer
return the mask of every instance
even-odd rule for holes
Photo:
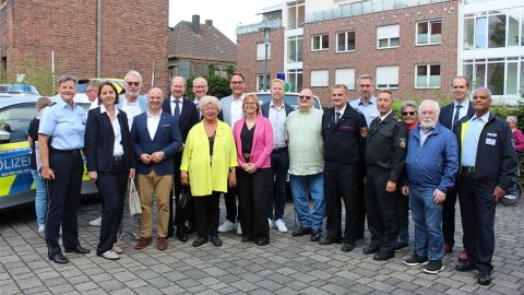
[[[84,109],[73,103],[73,109],[61,98],[41,113],[38,133],[52,138],[51,146],[57,150],[84,148]]]

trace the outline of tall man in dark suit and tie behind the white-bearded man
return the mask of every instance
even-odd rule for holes
[[[455,101],[442,107],[439,116],[439,122],[453,131],[456,123],[464,117],[471,118],[475,111],[472,103],[467,99],[469,93],[469,81],[465,76],[453,79],[453,96]],[[448,190],[442,206],[442,234],[444,235],[444,252],[452,252],[455,245],[455,203],[456,190]],[[463,251],[460,260],[465,260],[467,255]]]

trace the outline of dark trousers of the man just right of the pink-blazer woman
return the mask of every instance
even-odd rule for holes
[[[271,153],[271,177],[269,177],[267,219],[282,220],[286,206],[286,179],[289,169],[287,149]],[[274,210],[274,211],[273,211]],[[274,213],[274,214],[273,214]]]

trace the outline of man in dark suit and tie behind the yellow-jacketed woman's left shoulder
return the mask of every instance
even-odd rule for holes
[[[186,142],[189,130],[199,122],[199,113],[196,111],[196,106],[190,102],[188,98],[183,97],[186,93],[187,82],[183,76],[174,76],[171,79],[171,95],[164,99],[162,109],[164,113],[171,114],[175,119],[178,121],[178,127],[182,135],[182,142]],[[177,226],[177,237],[181,241],[188,240],[188,227],[186,222],[189,221],[191,225],[193,222],[192,217],[192,205],[191,201],[188,202],[188,205],[184,209],[177,205],[180,201],[180,193],[182,191],[182,184],[180,184],[180,163],[182,160],[182,154],[177,153],[174,155],[174,167],[175,167],[175,225]],[[189,193],[189,189],[186,189]],[[174,203],[172,198],[169,198],[169,224],[167,229],[167,236],[170,237],[174,234],[174,222],[172,222],[172,210]]]

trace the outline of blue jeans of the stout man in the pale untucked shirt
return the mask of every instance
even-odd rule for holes
[[[289,175],[289,186],[300,226],[320,228],[325,216],[323,175]],[[309,209],[308,191],[313,199],[313,209]]]

